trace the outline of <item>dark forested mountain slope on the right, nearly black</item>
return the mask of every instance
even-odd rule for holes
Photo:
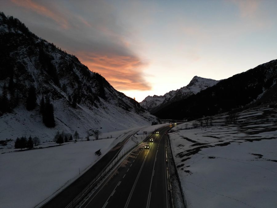
[[[164,119],[195,119],[277,102],[277,60],[221,80],[216,85],[155,112]]]

